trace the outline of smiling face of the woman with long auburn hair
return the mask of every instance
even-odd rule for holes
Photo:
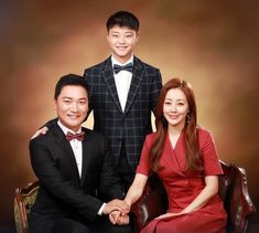
[[[170,89],[163,105],[163,115],[169,125],[183,128],[187,113],[188,103],[185,94],[180,88]]]

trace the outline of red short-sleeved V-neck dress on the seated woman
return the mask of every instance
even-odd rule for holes
[[[148,135],[145,138],[137,173],[150,174],[151,169],[148,152],[154,135],[155,133]],[[160,160],[163,169],[157,173],[163,181],[168,192],[169,212],[181,212],[188,205],[205,187],[205,176],[223,173],[211,134],[199,128],[198,137],[204,171],[186,172],[184,171],[185,147],[183,134],[181,134],[174,149],[171,146],[169,136],[166,136],[164,150]],[[225,232],[226,224],[227,214],[223,201],[216,194],[197,211],[151,221],[141,233],[223,233]]]

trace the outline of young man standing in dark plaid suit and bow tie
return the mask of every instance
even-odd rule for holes
[[[160,71],[133,55],[139,20],[127,11],[106,23],[111,56],[85,70],[94,129],[104,134],[116,159],[125,192],[130,187],[145,135],[152,131],[151,112],[162,87]]]

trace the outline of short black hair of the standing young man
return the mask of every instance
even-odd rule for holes
[[[107,20],[106,22],[107,31],[109,32],[109,30],[115,25],[128,27],[138,32],[140,23],[138,18],[133,13],[128,11],[118,11],[112,15],[110,15],[109,19]]]

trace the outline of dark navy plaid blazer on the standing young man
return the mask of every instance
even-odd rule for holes
[[[134,56],[125,112],[117,94],[111,57],[86,68],[84,78],[89,88],[89,113],[94,110],[94,129],[106,136],[116,162],[123,141],[128,162],[136,171],[145,135],[152,131],[151,112],[162,87],[160,71]]]

